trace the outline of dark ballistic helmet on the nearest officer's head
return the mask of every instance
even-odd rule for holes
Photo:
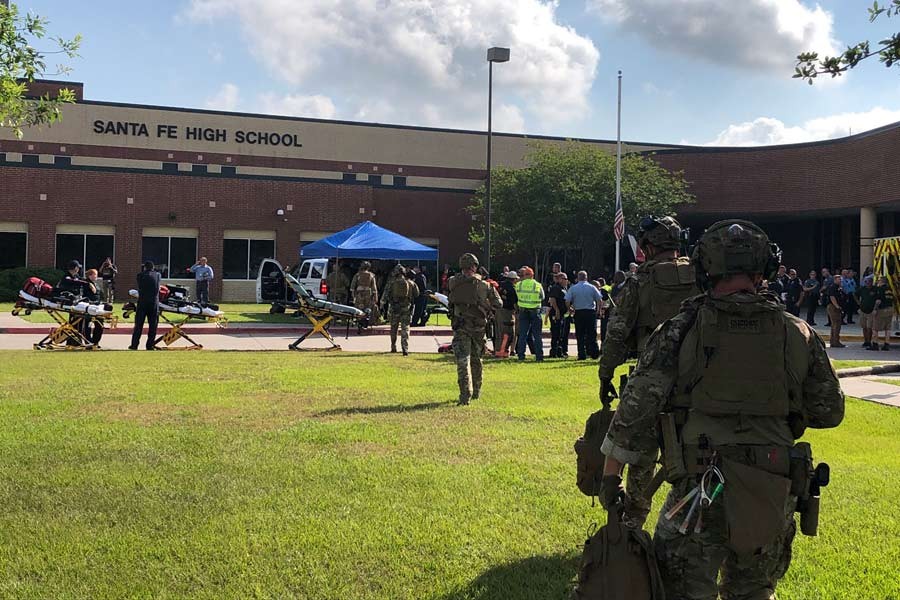
[[[725,275],[761,273],[771,279],[781,263],[781,249],[750,221],[719,221],[697,242],[691,262],[701,287]]]

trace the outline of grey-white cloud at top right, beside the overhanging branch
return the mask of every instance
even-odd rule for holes
[[[831,13],[799,0],[588,0],[653,46],[726,66],[793,73],[807,50],[835,54]]]

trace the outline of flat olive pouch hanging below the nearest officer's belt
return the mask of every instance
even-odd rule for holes
[[[748,556],[771,544],[787,527],[791,481],[762,469],[722,458],[728,547]]]

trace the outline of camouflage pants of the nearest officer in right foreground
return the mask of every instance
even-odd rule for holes
[[[722,600],[774,598],[775,586],[791,562],[796,497],[788,499],[784,530],[778,539],[760,552],[742,557],[727,545],[728,530],[721,501],[703,511],[700,533],[693,533],[696,515],[687,534],[678,532],[687,510],[676,514],[671,521],[666,520],[665,513],[694,485],[694,479],[689,478],[672,486],[653,536],[667,600],[716,600],[719,595]]]

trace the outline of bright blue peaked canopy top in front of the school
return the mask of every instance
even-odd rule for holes
[[[399,233],[364,221],[300,249],[303,258],[373,258],[381,260],[430,260],[437,250]]]

